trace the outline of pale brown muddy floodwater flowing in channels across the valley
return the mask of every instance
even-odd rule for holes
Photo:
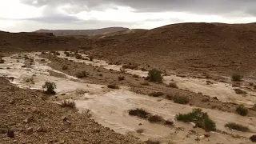
[[[106,69],[120,70],[122,66],[108,65],[105,61],[100,60],[78,60],[73,57],[66,57],[60,52],[59,58],[68,58],[74,62],[84,62],[86,65],[102,66]],[[32,65],[24,67],[26,63],[25,55],[34,59]],[[6,61],[0,64],[0,75],[12,77],[10,82],[22,88],[42,90],[42,85],[46,81],[55,82],[57,85],[57,98],[52,98],[53,102],[62,102],[68,98],[76,102],[78,110],[83,111],[90,109],[92,118],[110,129],[121,134],[133,134],[134,136],[147,140],[154,138],[162,143],[250,143],[249,137],[256,132],[256,118],[242,117],[234,113],[226,113],[218,110],[202,109],[207,112],[216,122],[218,130],[226,131],[228,134],[210,132],[210,137],[204,130],[193,128],[192,123],[176,122],[176,114],[188,113],[195,106],[179,105],[162,98],[153,98],[142,94],[135,94],[129,90],[129,87],[121,86],[119,90],[108,89],[104,85],[85,83],[78,78],[64,74],[47,66],[50,62],[46,58],[40,58],[40,53],[14,54],[10,57],[4,57]],[[82,54],[87,58],[85,54]],[[42,60],[44,59],[44,60]],[[50,76],[50,71],[65,75],[65,78]],[[147,72],[141,70],[126,70],[127,74],[137,74],[145,77]],[[33,78],[34,82],[27,81]],[[164,82],[177,82],[178,87],[182,90],[190,90],[195,93],[202,93],[210,97],[217,97],[221,101],[235,102],[245,106],[253,106],[255,99],[254,91],[246,90],[246,95],[234,93],[234,87],[222,82],[214,82],[212,85],[206,85],[205,79],[198,78],[180,78],[177,76],[165,76]],[[63,96],[65,94],[65,96]],[[153,124],[141,118],[132,117],[128,110],[142,108],[152,114],[158,114],[164,119],[174,121],[174,126],[162,126]],[[238,132],[229,130],[224,125],[228,122],[236,122],[246,125],[251,132]],[[142,129],[143,132],[138,134],[136,130]],[[231,136],[233,134],[233,136]],[[235,137],[239,135],[240,137]],[[196,140],[197,139],[197,140]],[[199,139],[199,141],[198,141]]]

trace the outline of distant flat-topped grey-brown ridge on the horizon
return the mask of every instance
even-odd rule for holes
[[[69,36],[69,35],[96,35],[108,34],[122,30],[129,30],[123,27],[108,27],[96,30],[37,30],[36,33],[53,33],[55,36]]]

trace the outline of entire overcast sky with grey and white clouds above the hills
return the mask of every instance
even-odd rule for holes
[[[1,0],[0,30],[151,29],[179,22],[256,22],[256,0]]]

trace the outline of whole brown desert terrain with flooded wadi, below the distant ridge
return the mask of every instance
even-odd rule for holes
[[[256,24],[0,32],[0,143],[253,143]]]

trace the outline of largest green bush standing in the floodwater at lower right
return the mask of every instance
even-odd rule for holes
[[[175,119],[181,122],[194,122],[196,126],[206,131],[216,130],[215,122],[209,118],[207,113],[202,112],[201,109],[193,109],[189,114],[177,114]]]

